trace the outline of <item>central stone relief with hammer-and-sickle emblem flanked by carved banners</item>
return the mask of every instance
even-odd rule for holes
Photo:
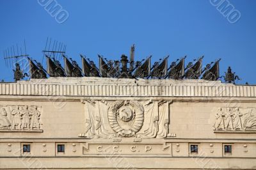
[[[166,100],[81,100],[86,129],[80,137],[164,138],[169,136]]]

